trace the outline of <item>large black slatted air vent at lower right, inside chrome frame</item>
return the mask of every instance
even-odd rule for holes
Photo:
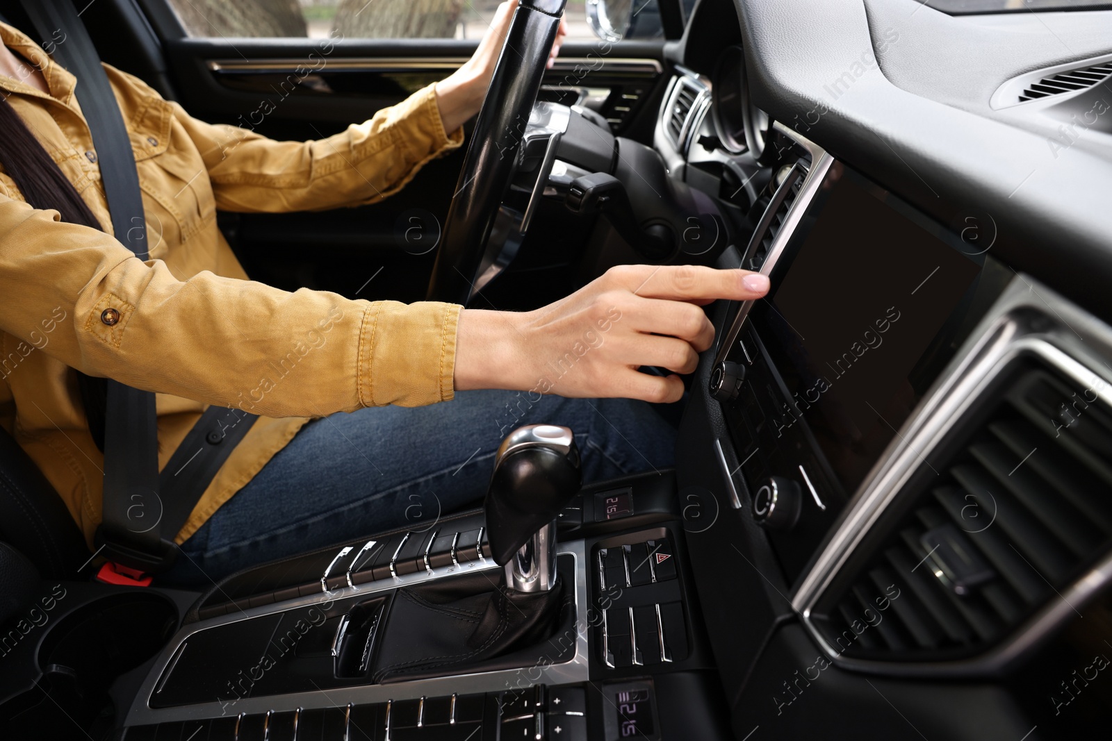
[[[1112,547],[1112,415],[1042,366],[1016,370],[950,464],[923,470],[822,597],[846,658],[981,653]],[[924,465],[925,468],[925,465]]]

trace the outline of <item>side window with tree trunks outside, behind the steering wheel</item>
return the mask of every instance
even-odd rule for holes
[[[568,0],[568,38],[595,40],[586,2]],[[193,37],[309,37],[377,39],[479,39],[499,0],[169,0]],[[658,18],[656,0],[639,0]],[[638,13],[641,14],[641,13]],[[637,32],[638,38],[659,33]],[[649,23],[652,24],[652,23]],[[644,23],[643,23],[644,26]]]

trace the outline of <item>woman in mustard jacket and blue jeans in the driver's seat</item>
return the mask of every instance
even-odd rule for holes
[[[0,423],[90,543],[103,458],[75,371],[158,393],[162,467],[207,404],[261,415],[177,535],[185,558],[167,579],[181,583],[404,524],[415,503],[428,518],[473,501],[519,424],[572,427],[587,480],[671,464],[673,430],[628,399],[675,401],[681,379],[636,369],[691,372],[713,338],[696,304],[761,296],[764,278],[626,267],[530,312],[404,306],[250,282],[217,229],[218,209],[376,202],[458,147],[513,4],[459,71],[320,141],[197,121],[106,67],[147,262],[110,236],[75,78],[0,24]]]

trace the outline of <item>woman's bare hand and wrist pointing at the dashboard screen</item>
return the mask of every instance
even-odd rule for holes
[[[701,304],[756,299],[768,279],[746,270],[619,266],[572,296],[523,313],[465,309],[455,384],[562,397],[677,401],[714,326]],[[642,366],[674,372],[642,373]]]

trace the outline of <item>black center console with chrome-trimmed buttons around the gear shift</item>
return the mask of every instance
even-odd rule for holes
[[[519,589],[526,549],[544,569],[537,543],[496,560],[516,545],[497,532],[508,502],[224,580],[155,661],[125,738],[727,738],[672,472],[573,489],[552,595]]]

